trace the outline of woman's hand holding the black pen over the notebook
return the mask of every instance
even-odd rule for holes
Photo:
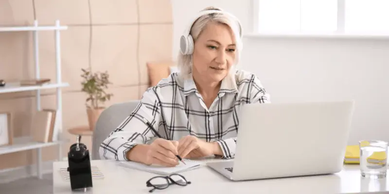
[[[147,165],[159,164],[162,166],[178,165],[178,142],[157,138],[150,145],[134,146],[128,155],[129,160],[142,162]]]

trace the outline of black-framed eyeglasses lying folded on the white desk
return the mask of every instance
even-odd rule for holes
[[[185,177],[178,174],[171,174],[169,176],[163,177],[153,177],[147,180],[146,186],[147,187],[154,187],[154,189],[150,190],[149,192],[153,192],[156,189],[162,190],[168,188],[170,185],[177,184],[180,186],[186,186],[188,184],[191,184],[191,181],[187,181]]]

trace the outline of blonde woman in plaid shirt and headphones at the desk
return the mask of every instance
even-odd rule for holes
[[[240,107],[267,103],[269,95],[255,75],[234,69],[242,49],[236,18],[210,7],[193,22],[181,37],[179,73],[147,89],[101,144],[101,157],[163,166],[177,165],[176,155],[234,157]]]

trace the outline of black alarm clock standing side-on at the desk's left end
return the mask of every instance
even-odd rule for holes
[[[80,143],[81,136],[77,136],[77,142],[70,146],[68,152],[69,176],[71,190],[87,190],[93,187],[92,172],[90,169],[89,151],[85,144]]]

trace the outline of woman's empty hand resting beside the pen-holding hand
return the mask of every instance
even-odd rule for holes
[[[212,143],[205,142],[195,136],[187,135],[178,141],[178,155],[181,158],[201,158],[213,154]]]

